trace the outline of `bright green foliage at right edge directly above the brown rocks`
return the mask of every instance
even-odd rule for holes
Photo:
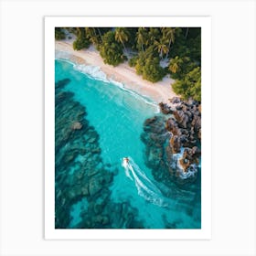
[[[173,84],[173,90],[184,99],[192,97],[196,101],[201,101],[201,69],[197,67]]]

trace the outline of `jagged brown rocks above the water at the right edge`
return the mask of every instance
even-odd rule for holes
[[[172,133],[169,146],[173,154],[181,153],[181,148],[185,148],[181,157],[172,159],[177,161],[176,165],[170,166],[170,173],[181,177],[183,180],[197,173],[197,165],[200,159],[198,145],[201,142],[201,105],[197,101],[181,101],[177,98],[171,100],[176,104],[173,116],[170,117],[165,127]]]

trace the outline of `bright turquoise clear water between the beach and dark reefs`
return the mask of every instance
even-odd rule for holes
[[[100,135],[102,162],[114,170],[109,200],[128,202],[136,208],[137,219],[143,221],[146,229],[165,229],[166,223],[176,229],[200,228],[195,192],[156,182],[144,164],[144,144],[140,136],[144,121],[160,115],[157,105],[123,89],[121,84],[81,73],[67,61],[56,60],[55,64],[56,81],[70,80],[63,91],[74,93],[74,101],[86,108],[87,120]],[[128,165],[123,165],[125,156],[130,159]],[[82,163],[82,157],[79,155],[76,161]],[[69,176],[73,172],[69,170]],[[173,189],[180,191],[180,197],[177,193],[172,196]],[[69,227],[80,222],[80,212],[86,210],[88,204],[86,197],[73,203]]]

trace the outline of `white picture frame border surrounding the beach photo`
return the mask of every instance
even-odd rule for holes
[[[55,27],[201,27],[202,173],[201,229],[55,229],[54,60]],[[45,239],[210,240],[211,239],[211,18],[210,16],[45,17]]]

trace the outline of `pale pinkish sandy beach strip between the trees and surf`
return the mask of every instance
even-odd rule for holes
[[[100,67],[109,80],[122,82],[125,88],[136,91],[157,103],[161,101],[166,103],[176,96],[171,87],[174,80],[168,77],[156,83],[143,80],[142,76],[136,74],[135,69],[129,67],[127,61],[117,67],[105,64],[99,51],[92,46],[88,49],[76,51],[72,48],[72,40],[66,39],[56,41],[55,51],[57,58],[69,59],[76,64]]]

